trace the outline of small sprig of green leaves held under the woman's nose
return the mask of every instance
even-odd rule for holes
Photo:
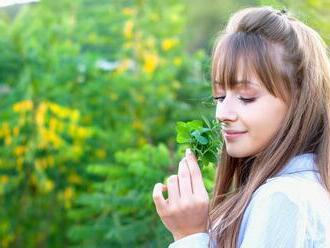
[[[216,164],[222,145],[220,125],[216,120],[209,121],[203,116],[203,121],[179,121],[176,123],[176,131],[176,141],[191,148],[201,167],[209,163]]]

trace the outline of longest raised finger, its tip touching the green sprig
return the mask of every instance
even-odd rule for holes
[[[199,169],[197,159],[190,149],[186,150],[186,160],[191,176],[193,194],[205,194],[206,189],[204,186],[202,173]]]

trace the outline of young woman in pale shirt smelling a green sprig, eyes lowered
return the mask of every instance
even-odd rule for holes
[[[170,247],[330,247],[330,64],[320,36],[285,11],[241,10],[215,43],[212,83],[225,143],[211,202],[189,151],[153,190]]]

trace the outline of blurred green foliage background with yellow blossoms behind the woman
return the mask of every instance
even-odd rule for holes
[[[0,1],[1,3],[8,1]],[[14,1],[12,1],[14,2]],[[152,201],[178,121],[214,118],[231,13],[287,8],[330,42],[330,1],[41,0],[0,8],[0,247],[167,247]],[[209,192],[214,166],[203,168]]]

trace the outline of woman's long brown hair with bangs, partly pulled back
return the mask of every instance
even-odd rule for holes
[[[237,65],[253,71],[288,105],[283,125],[258,154],[234,158],[224,145],[210,202],[209,230],[218,247],[236,248],[253,192],[294,156],[313,152],[322,186],[330,192],[330,64],[319,34],[272,7],[236,12],[216,39],[212,89],[232,88]]]

